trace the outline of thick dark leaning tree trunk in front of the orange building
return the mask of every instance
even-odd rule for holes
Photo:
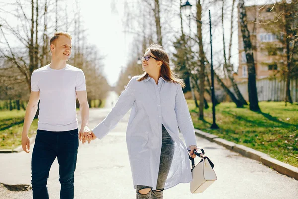
[[[253,57],[253,50],[250,40],[250,33],[247,27],[247,16],[244,6],[244,0],[239,0],[240,9],[240,26],[241,33],[244,43],[244,49],[248,67],[248,98],[249,98],[249,109],[252,111],[260,111],[258,92],[256,85],[256,68]]]

